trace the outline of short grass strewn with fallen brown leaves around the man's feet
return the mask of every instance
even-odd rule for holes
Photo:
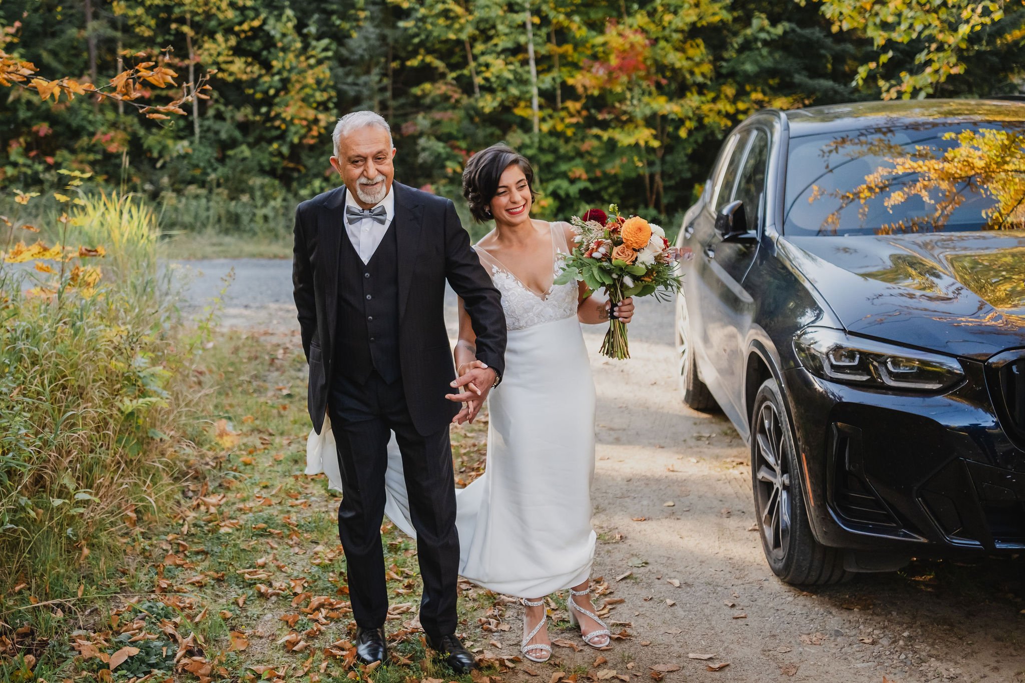
[[[259,672],[282,673],[285,667],[289,678],[310,667],[308,674],[323,680],[354,671],[346,665],[354,625],[334,521],[338,499],[323,475],[302,474],[309,418],[301,352],[294,340],[279,346],[239,336],[213,341],[188,383],[189,392],[203,397],[194,422],[204,432],[198,440],[210,447],[184,455],[173,499],[165,499],[159,514],[145,523],[123,529],[126,554],[111,556],[106,579],[90,583],[81,599],[66,587],[59,603],[34,606],[33,587],[8,593],[0,605],[0,622],[9,626],[9,631],[0,627],[0,634],[29,627],[13,644],[18,652],[35,653],[35,678],[99,675],[105,663],[83,658],[79,650],[117,652],[125,646],[121,632],[140,607],[151,613],[171,610],[173,616],[145,617],[141,631],[129,631],[149,633],[154,642],[176,634],[170,638],[173,653],[181,642],[197,643],[194,649],[202,654],[194,666],[201,671],[209,665],[206,675],[214,680],[256,680]],[[485,430],[483,422],[453,434],[457,477],[464,481],[482,470]],[[409,628],[420,597],[415,545],[388,523],[382,539],[395,612],[386,624],[393,658],[372,673],[374,682],[469,681],[427,659],[420,633]],[[501,618],[505,603],[466,584],[461,593],[460,633],[473,647],[493,649],[487,645],[492,636],[481,632],[477,618],[485,613]],[[312,601],[327,607],[311,611],[317,604]],[[168,618],[174,621],[171,627]],[[77,645],[71,636],[76,630]],[[510,630],[516,633],[518,626]],[[290,634],[306,644],[289,651],[292,641],[281,641]],[[501,639],[512,644],[510,634]],[[247,645],[239,650],[243,640]],[[504,653],[510,655],[507,646]],[[492,659],[485,674],[505,669],[500,663]],[[168,664],[155,658],[152,648],[121,667],[132,675],[147,667],[174,670],[173,656]],[[121,667],[114,671],[116,680],[129,677],[119,673]],[[0,681],[17,680],[19,671],[17,660],[0,664]]]

